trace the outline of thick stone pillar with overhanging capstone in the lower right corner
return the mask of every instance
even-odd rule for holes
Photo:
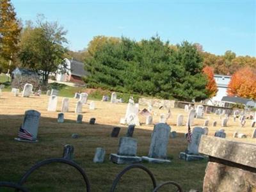
[[[256,145],[202,136],[199,152],[209,156],[203,192],[256,191]]]

